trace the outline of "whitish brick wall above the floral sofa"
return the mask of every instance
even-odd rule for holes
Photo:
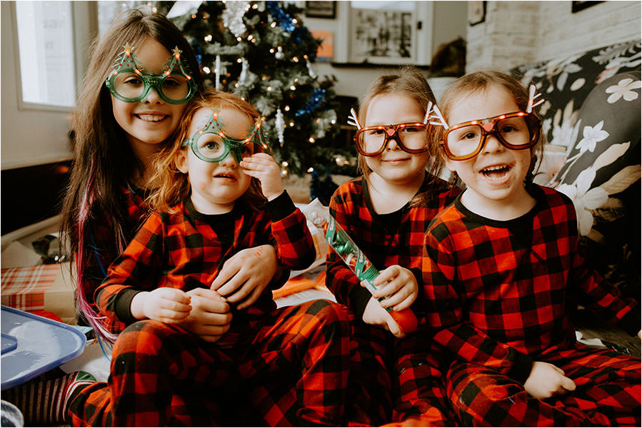
[[[604,1],[575,14],[571,1],[488,1],[486,19],[468,26],[466,71],[565,57],[641,38],[640,1]]]

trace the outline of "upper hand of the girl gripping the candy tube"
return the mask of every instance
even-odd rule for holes
[[[388,283],[380,287],[386,281]],[[372,293],[372,297],[375,299],[386,297],[386,300],[381,300],[381,306],[392,307],[396,311],[410,307],[416,300],[419,291],[415,275],[411,270],[399,265],[386,267],[372,283],[378,287]]]

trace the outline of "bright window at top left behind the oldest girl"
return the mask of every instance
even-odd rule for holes
[[[16,1],[22,103],[71,108],[76,62],[71,1]]]

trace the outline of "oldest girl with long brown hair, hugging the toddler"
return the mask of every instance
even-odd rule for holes
[[[137,86],[142,88],[143,98],[117,98],[106,81],[126,44],[133,46],[136,66],[144,73],[161,73],[174,49],[178,49],[180,67],[173,68],[172,75],[166,78],[169,84],[145,83]],[[133,70],[121,71],[119,81]],[[187,95],[180,93],[179,98],[167,101],[165,89],[187,76],[194,83],[176,86],[189,88]],[[61,210],[61,237],[74,255],[79,323],[91,323],[97,335],[108,342],[115,340],[124,324],[99,312],[94,292],[107,267],[134,238],[148,215],[144,200],[149,195],[151,161],[176,131],[186,102],[200,88],[201,74],[194,52],[181,31],[161,14],[126,11],[92,46],[71,123],[76,157]],[[169,96],[173,97],[171,93]],[[226,260],[217,278],[265,285],[273,277],[283,283],[288,275],[277,262],[274,247],[264,245],[241,250]],[[209,290],[191,292],[206,295]],[[204,320],[209,310],[203,307]],[[203,324],[199,328],[211,327]],[[26,423],[64,422],[69,397],[93,379],[84,373],[61,371],[50,372],[46,378],[3,392],[3,399],[16,403],[23,411]]]

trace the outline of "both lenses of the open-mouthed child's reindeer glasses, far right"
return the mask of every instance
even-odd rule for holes
[[[532,142],[533,132],[525,117],[498,119],[491,128],[492,125],[493,122],[487,122],[483,126],[467,125],[449,131],[446,136],[448,151],[453,156],[471,155],[478,150],[483,137],[489,133],[493,133],[501,143],[509,146],[526,146]]]

